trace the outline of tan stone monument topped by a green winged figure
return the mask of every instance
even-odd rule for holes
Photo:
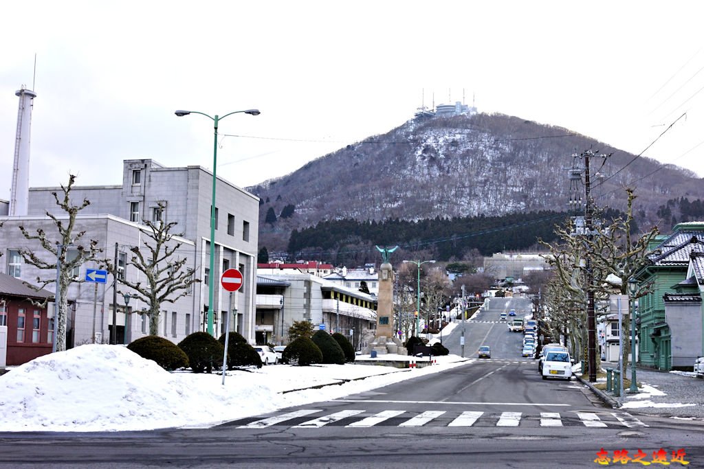
[[[406,355],[406,349],[401,340],[396,337],[394,329],[394,269],[391,267],[389,257],[398,246],[394,248],[379,248],[382,253],[382,266],[379,267],[379,296],[377,297],[377,333],[370,342],[368,352],[383,354]]]

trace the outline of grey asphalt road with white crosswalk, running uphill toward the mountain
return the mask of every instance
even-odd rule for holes
[[[574,380],[542,380],[497,311],[465,325],[472,359],[451,370],[208,429],[0,434],[0,467],[581,468],[601,449],[645,461],[681,449],[704,467],[702,423],[610,409]],[[482,344],[491,359],[475,358]]]

